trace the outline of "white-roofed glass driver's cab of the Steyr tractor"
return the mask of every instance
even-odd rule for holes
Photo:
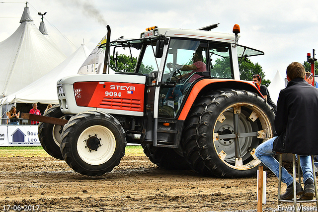
[[[147,28],[140,38],[110,42],[113,63],[119,62],[118,51],[120,54],[125,52],[125,55],[130,55],[135,67],[134,70],[115,74],[122,75],[122,79],[129,79],[131,75],[146,78],[144,142],[178,147],[183,122],[190,109],[189,106],[184,107],[186,102],[189,105],[199,93],[217,89],[212,86],[214,82],[228,82],[231,88],[231,81],[239,80],[238,59],[264,54],[238,45],[238,35],[205,29],[198,31],[155,26]],[[103,44],[100,48],[105,46]],[[138,58],[133,55],[138,55]],[[204,79],[210,80],[203,83],[200,91],[193,93],[194,86]]]

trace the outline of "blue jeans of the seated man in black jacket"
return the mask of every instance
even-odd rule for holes
[[[277,177],[279,176],[279,162],[273,157],[275,152],[273,151],[273,142],[276,137],[270,138],[269,140],[261,143],[255,149],[255,156],[269,168]],[[300,167],[302,168],[304,183],[307,179],[314,181],[313,165],[311,156],[300,155]],[[287,186],[293,183],[293,177],[282,167],[282,182],[286,183]]]

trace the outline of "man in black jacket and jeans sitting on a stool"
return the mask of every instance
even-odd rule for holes
[[[260,144],[256,157],[277,177],[279,163],[273,157],[275,152],[300,155],[305,188],[296,182],[296,193],[302,199],[311,200],[315,193],[314,175],[311,157],[317,155],[318,130],[318,89],[305,81],[305,69],[302,64],[293,62],[286,70],[287,87],[279,93],[275,117],[274,137]],[[282,167],[282,182],[286,183],[286,193],[282,200],[293,198],[293,177]]]

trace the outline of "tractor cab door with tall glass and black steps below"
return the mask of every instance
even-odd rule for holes
[[[203,45],[204,44],[204,45]],[[207,72],[207,42],[170,39],[159,88],[157,133],[154,146],[177,148],[184,120],[177,120],[193,83]],[[199,55],[200,61],[194,59]],[[191,66],[192,65],[192,66]],[[189,70],[189,67],[196,67]]]

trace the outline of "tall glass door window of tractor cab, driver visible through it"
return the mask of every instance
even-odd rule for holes
[[[176,117],[191,85],[207,72],[207,42],[171,39],[159,96],[159,117]]]

